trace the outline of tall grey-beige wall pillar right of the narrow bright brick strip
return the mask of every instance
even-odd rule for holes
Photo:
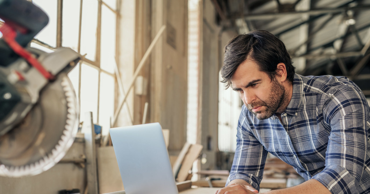
[[[198,142],[203,145],[207,162],[201,169],[214,169],[218,139],[218,33],[216,13],[211,0],[200,5],[199,120]],[[200,136],[200,137],[199,137]]]

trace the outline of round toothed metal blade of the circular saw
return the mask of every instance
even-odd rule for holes
[[[73,144],[78,117],[73,86],[61,73],[23,121],[0,137],[0,176],[36,175],[54,166]]]

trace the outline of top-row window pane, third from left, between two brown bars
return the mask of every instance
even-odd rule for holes
[[[98,1],[82,1],[81,50],[82,55],[95,61],[96,30],[98,22]]]

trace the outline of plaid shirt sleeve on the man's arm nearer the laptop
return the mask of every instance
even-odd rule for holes
[[[230,181],[242,179],[259,190],[262,180],[263,168],[265,167],[267,151],[250,131],[243,106],[238,121],[236,134],[236,151],[226,186]]]

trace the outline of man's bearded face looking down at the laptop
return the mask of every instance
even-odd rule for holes
[[[260,71],[253,60],[247,59],[239,65],[231,83],[244,105],[260,120],[271,117],[287,100],[283,85]]]

